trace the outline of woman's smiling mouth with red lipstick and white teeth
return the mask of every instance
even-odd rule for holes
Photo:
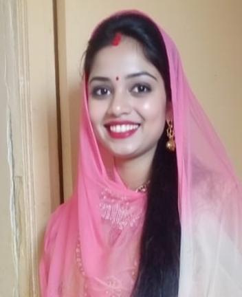
[[[122,121],[109,122],[104,124],[104,126],[112,138],[122,139],[133,135],[139,129],[140,124],[137,122]]]

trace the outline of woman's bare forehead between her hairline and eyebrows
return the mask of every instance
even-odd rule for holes
[[[90,76],[125,76],[137,71],[157,74],[155,66],[144,56],[140,43],[130,37],[122,36],[119,45],[109,45],[96,54]]]

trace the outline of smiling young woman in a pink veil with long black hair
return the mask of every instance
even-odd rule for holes
[[[120,12],[84,71],[78,179],[47,228],[42,296],[242,296],[241,184],[173,41]]]

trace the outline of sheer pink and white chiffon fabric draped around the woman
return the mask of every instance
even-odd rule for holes
[[[168,53],[177,146],[179,297],[241,297],[241,182],[192,94],[173,41],[160,32]],[[83,90],[76,187],[47,226],[41,292],[43,297],[128,297],[137,274],[146,195],[126,188],[112,162],[104,162]]]

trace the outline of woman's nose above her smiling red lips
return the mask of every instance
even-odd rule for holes
[[[129,114],[131,110],[132,107],[129,96],[124,94],[122,91],[117,91],[111,98],[107,113],[118,117],[122,114]]]

